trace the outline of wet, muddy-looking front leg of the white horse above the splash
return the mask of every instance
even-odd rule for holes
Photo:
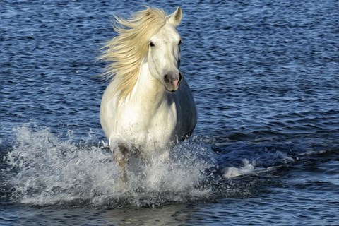
[[[115,141],[110,143],[110,147],[113,159],[119,166],[121,182],[126,182],[126,167],[129,162],[129,155],[131,154],[131,145],[128,145],[125,142]]]

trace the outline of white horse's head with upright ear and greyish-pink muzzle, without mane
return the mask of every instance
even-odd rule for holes
[[[182,42],[176,26],[182,20],[182,10],[167,17],[165,25],[150,37],[148,48],[148,66],[152,76],[165,85],[165,90],[174,92],[182,81],[180,66],[180,44]]]

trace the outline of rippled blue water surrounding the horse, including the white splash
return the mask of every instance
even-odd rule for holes
[[[1,1],[0,225],[339,225],[338,1],[182,1],[198,126],[121,189],[95,59],[145,4]]]

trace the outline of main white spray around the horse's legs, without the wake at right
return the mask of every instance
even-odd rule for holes
[[[177,145],[168,162],[155,156],[151,165],[131,165],[129,180],[121,186],[117,165],[104,145],[76,144],[71,135],[62,141],[49,129],[32,131],[30,126],[14,131],[17,143],[6,157],[12,172],[8,186],[20,203],[157,206],[201,199],[211,192],[201,186],[206,169],[214,165],[203,142]]]

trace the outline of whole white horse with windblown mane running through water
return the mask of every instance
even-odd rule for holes
[[[181,8],[169,16],[146,8],[116,20],[118,35],[100,57],[111,62],[104,76],[112,77],[102,96],[100,123],[126,179],[133,153],[147,158],[160,152],[166,159],[171,145],[191,135],[196,107],[179,71]]]

